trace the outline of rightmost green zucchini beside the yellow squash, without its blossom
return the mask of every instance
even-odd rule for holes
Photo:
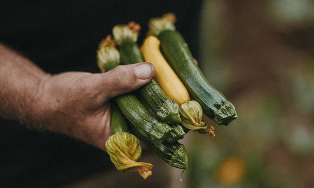
[[[236,119],[235,107],[206,80],[182,35],[178,31],[164,30],[157,38],[165,59],[193,99],[202,106],[205,115],[219,125],[229,125]]]

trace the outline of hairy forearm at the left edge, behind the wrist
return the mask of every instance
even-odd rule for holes
[[[42,86],[51,78],[27,58],[0,44],[0,116],[40,124]]]

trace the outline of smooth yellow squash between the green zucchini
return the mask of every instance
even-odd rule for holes
[[[155,80],[164,90],[165,94],[181,106],[181,104],[190,100],[189,93],[161,54],[159,45],[159,39],[153,35],[149,35],[143,41],[141,52],[145,61],[155,66]]]

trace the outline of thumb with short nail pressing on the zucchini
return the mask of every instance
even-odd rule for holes
[[[102,74],[104,94],[112,98],[134,91],[148,84],[155,73],[154,65],[149,62],[119,65]]]

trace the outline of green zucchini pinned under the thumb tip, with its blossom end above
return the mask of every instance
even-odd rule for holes
[[[139,46],[135,42],[137,34],[132,33],[127,25],[117,25],[112,30],[113,36],[119,39],[121,63],[128,65],[144,62]],[[141,87],[139,91],[162,121],[168,124],[181,122],[179,105],[165,94],[155,79]]]

